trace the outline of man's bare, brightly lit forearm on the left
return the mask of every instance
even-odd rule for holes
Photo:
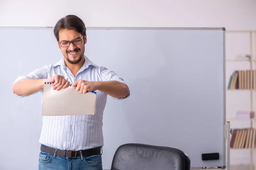
[[[44,88],[45,79],[21,79],[12,86],[13,93],[28,96]]]

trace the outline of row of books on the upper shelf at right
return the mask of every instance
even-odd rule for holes
[[[256,70],[235,70],[230,75],[227,89],[256,89]]]

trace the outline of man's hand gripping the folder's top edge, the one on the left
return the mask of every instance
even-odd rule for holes
[[[61,75],[55,75],[53,77],[50,77],[46,80],[46,82],[52,82],[53,90],[57,90],[57,91],[61,90],[61,88],[67,88],[70,85],[70,82],[67,81]]]

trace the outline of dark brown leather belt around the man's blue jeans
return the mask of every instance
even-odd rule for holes
[[[55,149],[52,147],[45,147],[41,145],[41,151],[49,153],[51,155],[54,155]],[[101,154],[101,148],[97,149],[88,149],[88,150],[82,150],[83,156],[91,156],[91,155],[99,155]],[[81,156],[80,151],[76,150],[57,150],[56,156],[64,156],[64,157],[69,157],[69,158],[76,158]]]

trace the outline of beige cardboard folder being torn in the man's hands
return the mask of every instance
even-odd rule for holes
[[[96,92],[80,94],[73,87],[53,90],[52,83],[44,84],[42,115],[94,115],[96,107]]]

